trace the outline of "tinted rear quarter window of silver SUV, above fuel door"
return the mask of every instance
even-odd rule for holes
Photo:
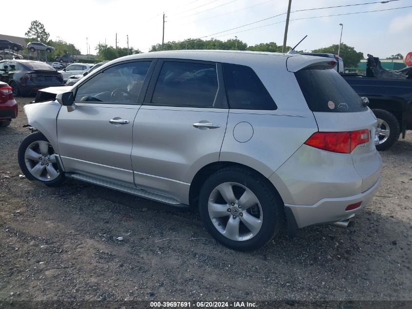
[[[275,110],[268,90],[252,68],[238,64],[223,64],[229,107],[235,109]]]

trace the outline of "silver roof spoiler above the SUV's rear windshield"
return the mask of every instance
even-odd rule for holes
[[[289,72],[297,72],[300,70],[329,70],[333,69],[337,61],[332,58],[296,55],[288,57],[286,60],[286,68]]]

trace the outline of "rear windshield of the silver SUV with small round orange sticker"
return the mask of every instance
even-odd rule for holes
[[[368,108],[335,70],[300,70],[294,73],[313,112],[361,112]]]

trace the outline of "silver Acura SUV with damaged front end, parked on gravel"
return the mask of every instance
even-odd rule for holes
[[[331,59],[168,51],[102,65],[24,106],[38,129],[19,148],[29,180],[72,178],[196,206],[237,250],[346,226],[381,179],[376,118]]]

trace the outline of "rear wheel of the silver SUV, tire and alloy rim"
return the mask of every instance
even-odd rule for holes
[[[228,194],[223,198],[221,192]],[[240,203],[247,204],[247,209]],[[215,172],[199,194],[199,213],[206,229],[219,243],[239,251],[254,250],[271,241],[283,224],[283,206],[266,178],[240,167]]]

